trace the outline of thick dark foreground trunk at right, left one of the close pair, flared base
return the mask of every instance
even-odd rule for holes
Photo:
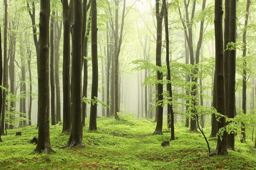
[[[223,33],[222,33],[222,0],[215,0],[215,46],[216,46],[216,96],[217,96],[217,112],[224,115],[218,121],[218,129],[226,126],[226,109],[225,109],[225,79],[224,79],[224,49],[223,49]],[[211,152],[209,156],[213,155],[227,155],[226,147],[226,132],[222,135],[222,140],[218,136],[216,150]]]

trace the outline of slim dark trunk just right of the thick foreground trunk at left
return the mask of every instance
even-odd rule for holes
[[[52,11],[50,23],[50,86],[51,86],[51,120],[56,125],[55,115],[55,83],[54,83],[54,18],[55,11]]]

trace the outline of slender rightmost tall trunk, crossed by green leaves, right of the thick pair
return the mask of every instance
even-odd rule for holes
[[[247,0],[247,5],[246,5],[246,13],[245,13],[245,25],[244,25],[244,32],[243,32],[243,44],[244,44],[244,49],[243,49],[243,58],[246,57],[246,32],[247,32],[247,25],[248,25],[248,18],[249,18],[249,7],[250,7],[251,1]],[[244,59],[245,60],[245,59]],[[246,61],[244,61],[244,68],[246,67]],[[246,114],[246,82],[247,82],[247,77],[246,77],[246,69],[243,70],[243,102],[242,102],[242,110],[243,113]],[[245,124],[242,122],[242,128],[241,128],[241,134],[243,136],[243,139],[241,139],[241,142],[245,142]]]

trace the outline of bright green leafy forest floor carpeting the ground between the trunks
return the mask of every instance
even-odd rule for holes
[[[0,170],[255,170],[256,150],[252,139],[241,144],[236,139],[236,151],[228,156],[208,157],[208,148],[200,132],[191,133],[183,123],[175,124],[175,138],[169,146],[170,130],[164,124],[164,135],[152,135],[153,119],[135,119],[124,115],[123,120],[113,117],[97,119],[97,131],[83,128],[83,148],[65,148],[69,135],[61,134],[62,125],[50,126],[51,145],[56,153],[31,152],[36,144],[36,126],[7,130],[1,136]],[[86,123],[89,119],[86,119]],[[204,128],[209,137],[211,128]],[[16,136],[21,132],[21,136]],[[216,138],[208,138],[211,151]]]

